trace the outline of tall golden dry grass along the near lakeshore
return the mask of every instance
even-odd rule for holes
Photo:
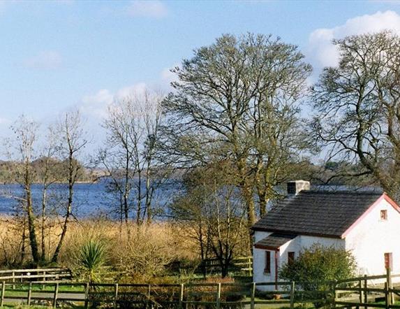
[[[29,239],[22,243],[23,231],[22,221],[5,216],[0,218],[1,267],[29,265]],[[48,220],[45,231],[47,260],[57,246],[60,233],[59,222]],[[106,265],[120,281],[148,282],[165,275],[167,266],[173,261],[198,259],[195,243],[191,238],[182,236],[182,228],[177,229],[174,224],[158,222],[139,227],[136,224],[126,226],[111,220],[91,219],[71,222],[59,254],[59,266],[78,268],[77,252],[89,240],[98,240],[105,245]],[[23,257],[22,250],[25,250]]]

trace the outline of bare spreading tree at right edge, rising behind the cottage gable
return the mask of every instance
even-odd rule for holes
[[[340,59],[312,89],[313,130],[332,155],[400,196],[400,38],[384,31],[334,41]]]

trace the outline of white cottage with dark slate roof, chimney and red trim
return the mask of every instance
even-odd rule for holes
[[[400,208],[385,193],[311,191],[288,182],[288,196],[253,225],[253,280],[276,282],[279,267],[315,243],[351,250],[360,274],[400,273]]]

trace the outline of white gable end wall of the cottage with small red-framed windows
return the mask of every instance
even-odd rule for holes
[[[380,220],[380,210],[387,210],[387,220]],[[346,250],[353,252],[361,275],[386,273],[385,252],[392,252],[392,273],[400,273],[400,214],[382,200],[349,231]]]

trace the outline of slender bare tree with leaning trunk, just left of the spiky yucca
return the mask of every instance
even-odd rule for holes
[[[59,252],[64,243],[68,224],[71,220],[71,215],[73,213],[74,187],[81,168],[81,165],[77,161],[77,157],[80,152],[82,152],[85,145],[87,145],[82,117],[78,110],[65,113],[64,118],[59,121],[57,129],[61,137],[61,153],[63,157],[65,157],[68,166],[66,168],[66,179],[68,180],[68,199],[66,203],[66,211],[64,213],[64,222],[61,227],[61,235],[59,236],[59,242],[52,256],[52,262],[57,262]]]

